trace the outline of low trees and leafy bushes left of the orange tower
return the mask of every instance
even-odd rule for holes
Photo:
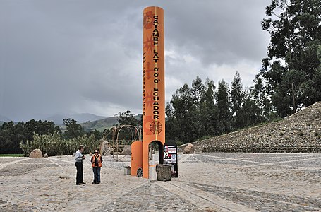
[[[141,126],[141,119],[136,119],[131,111],[119,112],[115,114],[118,117],[117,125]],[[35,121],[31,119],[28,122],[4,122],[0,126],[0,154],[25,153],[28,155],[35,148],[40,148],[48,155],[70,155],[74,153],[80,144],[86,146],[85,153],[90,153],[99,148],[102,142],[103,134],[109,134],[112,129],[104,131],[85,131],[83,126],[77,123],[75,119],[63,119],[66,128],[61,131],[59,126],[55,126],[51,121]],[[113,134],[107,138],[112,140]],[[123,129],[118,138],[121,140],[131,140],[133,131]]]

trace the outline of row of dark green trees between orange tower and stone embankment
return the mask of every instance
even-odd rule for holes
[[[243,89],[236,71],[231,88],[226,81],[218,86],[210,79],[197,77],[192,86],[184,84],[166,103],[166,139],[190,143],[205,136],[271,122],[277,118],[261,80]]]

